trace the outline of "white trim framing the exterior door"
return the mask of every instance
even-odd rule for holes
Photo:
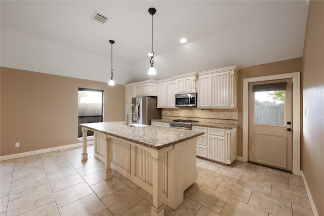
[[[243,79],[242,160],[248,162],[249,151],[249,83],[275,79],[293,79],[293,174],[300,175],[300,72]]]

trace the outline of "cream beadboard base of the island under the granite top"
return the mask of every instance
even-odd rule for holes
[[[96,138],[99,137],[96,136]],[[162,178],[159,178],[162,180],[161,201],[173,210],[183,202],[183,192],[197,180],[196,139],[193,138],[160,150],[164,155],[159,158],[159,163],[162,164],[160,169],[163,171]],[[99,144],[100,142],[95,143]],[[101,149],[100,147],[95,148]],[[152,166],[154,166],[152,154],[156,150],[118,138],[112,138],[111,150],[111,168],[153,195],[153,176],[146,171],[152,170]],[[102,160],[103,158],[98,157],[98,159]]]

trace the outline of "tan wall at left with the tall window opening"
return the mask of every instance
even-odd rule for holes
[[[78,143],[78,88],[104,90],[104,121],[124,120],[124,85],[4,67],[0,76],[1,156]]]

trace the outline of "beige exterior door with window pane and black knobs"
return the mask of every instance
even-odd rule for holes
[[[249,83],[249,161],[292,171],[292,79]]]

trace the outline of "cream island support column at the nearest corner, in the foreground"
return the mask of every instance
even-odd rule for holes
[[[153,178],[153,205],[151,206],[151,216],[164,216],[164,207],[162,205],[164,156],[165,152],[162,149],[155,150],[151,154]]]

